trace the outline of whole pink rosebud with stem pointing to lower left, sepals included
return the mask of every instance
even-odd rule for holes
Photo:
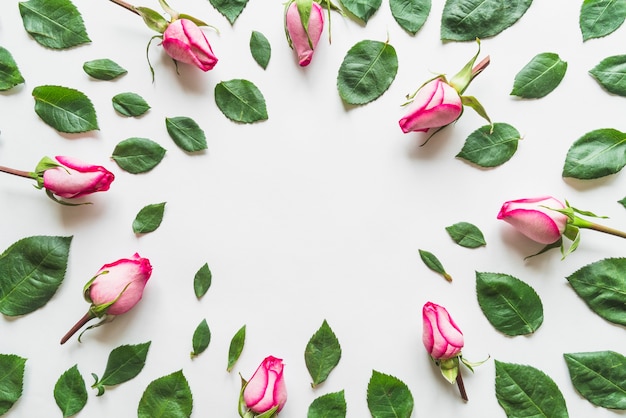
[[[83,296],[91,304],[89,311],[65,334],[61,344],[93,318],[103,320],[87,329],[131,310],[141,300],[151,274],[150,260],[137,253],[132,258],[122,258],[102,266],[83,288]]]

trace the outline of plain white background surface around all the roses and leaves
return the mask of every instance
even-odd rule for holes
[[[415,417],[504,417],[494,390],[494,360],[527,364],[548,374],[561,389],[571,417],[623,414],[594,407],[573,388],[563,353],[614,350],[626,354],[626,332],[594,314],[566,277],[605,257],[623,257],[625,242],[595,231],[582,232],[579,249],[565,260],[558,250],[524,260],[541,248],[496,219],[510,199],[544,194],[610,218],[626,229],[624,173],[593,181],[565,180],[570,145],[599,128],[626,130],[626,99],[604,91],[588,74],[601,59],[624,53],[626,28],[582,42],[581,1],[536,1],[514,26],[482,41],[479,60],[491,65],[466,94],[476,96],[496,122],[523,135],[504,165],[480,169],[456,159],[465,138],[484,121],[467,109],[453,126],[426,146],[422,134],[403,134],[400,105],[433,74],[456,73],[476,44],[442,43],[443,1],[433,2],[417,35],[393,20],[387,1],[362,25],[332,15],[310,66],[300,68],[283,30],[280,1],[251,0],[234,25],[206,0],[170,5],[219,28],[207,31],[217,66],[208,73],[178,66],[153,42],[141,19],[106,0],[76,0],[90,44],[48,50],[25,32],[17,2],[0,16],[0,45],[14,56],[26,83],[0,97],[0,164],[32,170],[45,155],[69,155],[105,165],[116,180],[92,205],[64,207],[32,182],[0,176],[0,248],[33,235],[73,236],[65,280],[43,308],[19,318],[0,318],[0,352],[27,358],[24,392],[11,417],[55,417],[52,390],[74,364],[85,378],[101,375],[108,353],[122,344],[152,341],[147,363],[133,380],[102,397],[89,390],[79,416],[132,417],[146,386],[181,370],[194,396],[194,417],[236,417],[239,373],[249,378],[267,355],[284,359],[289,399],[281,416],[306,416],[309,404],[328,392],[345,390],[348,417],[370,416],[366,403],[372,370],[405,382]],[[156,0],[138,6],[159,9]],[[272,46],[267,70],[250,55],[252,30]],[[387,92],[364,106],[342,103],[336,89],[345,53],[363,39],[389,38],[399,59]],[[561,85],[539,100],[509,95],[515,74],[541,52],[568,63]],[[128,74],[97,81],[82,70],[85,61],[110,58]],[[242,125],[215,105],[213,91],[224,80],[255,83],[267,101],[269,120]],[[31,92],[53,84],[78,89],[94,103],[99,131],[61,134],[34,112]],[[140,118],[125,118],[111,106],[113,95],[134,92],[152,106]],[[166,117],[188,116],[204,129],[208,150],[189,155],[169,138]],[[167,149],[152,171],[133,175],[110,159],[129,137],[150,138]],[[143,206],[167,202],[160,228],[135,236],[132,221]],[[466,221],[484,233],[487,246],[456,245],[445,227]],[[437,255],[452,283],[428,270],[418,255]],[[84,334],[82,343],[59,339],[87,310],[83,285],[105,263],[133,253],[154,267],[143,300],[128,314]],[[197,300],[193,277],[207,262],[213,272],[208,293]],[[510,338],[482,314],[475,272],[513,275],[530,284],[544,305],[545,320],[531,336]],[[444,305],[465,334],[463,353],[471,361],[491,356],[474,374],[464,369],[469,402],[446,383],[421,341],[426,301]],[[189,358],[191,336],[206,318],[209,348]],[[308,339],[326,319],[337,335],[342,358],[329,379],[310,387],[304,363]],[[226,372],[228,345],[247,325],[243,354]]]

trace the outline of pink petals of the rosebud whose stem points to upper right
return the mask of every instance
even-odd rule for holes
[[[442,78],[424,84],[409,105],[409,112],[400,119],[402,132],[426,132],[457,120],[463,112],[461,96]]]

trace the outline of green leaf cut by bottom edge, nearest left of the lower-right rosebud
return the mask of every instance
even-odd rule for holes
[[[413,395],[397,377],[372,370],[367,384],[367,407],[372,418],[409,418],[413,412]]]

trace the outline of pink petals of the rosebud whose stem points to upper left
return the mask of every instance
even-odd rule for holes
[[[188,19],[177,19],[163,32],[163,49],[176,61],[209,71],[217,64],[204,32]]]

